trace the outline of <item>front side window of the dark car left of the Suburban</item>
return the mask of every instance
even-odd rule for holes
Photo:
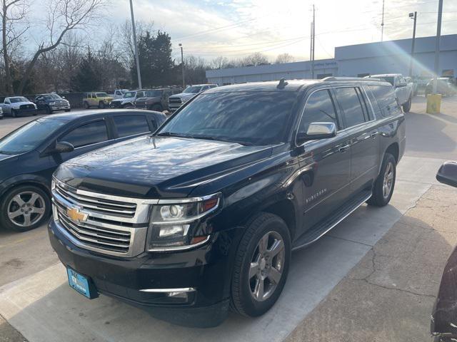
[[[60,141],[70,142],[74,147],[81,147],[108,140],[104,120],[87,123],[66,133]]]

